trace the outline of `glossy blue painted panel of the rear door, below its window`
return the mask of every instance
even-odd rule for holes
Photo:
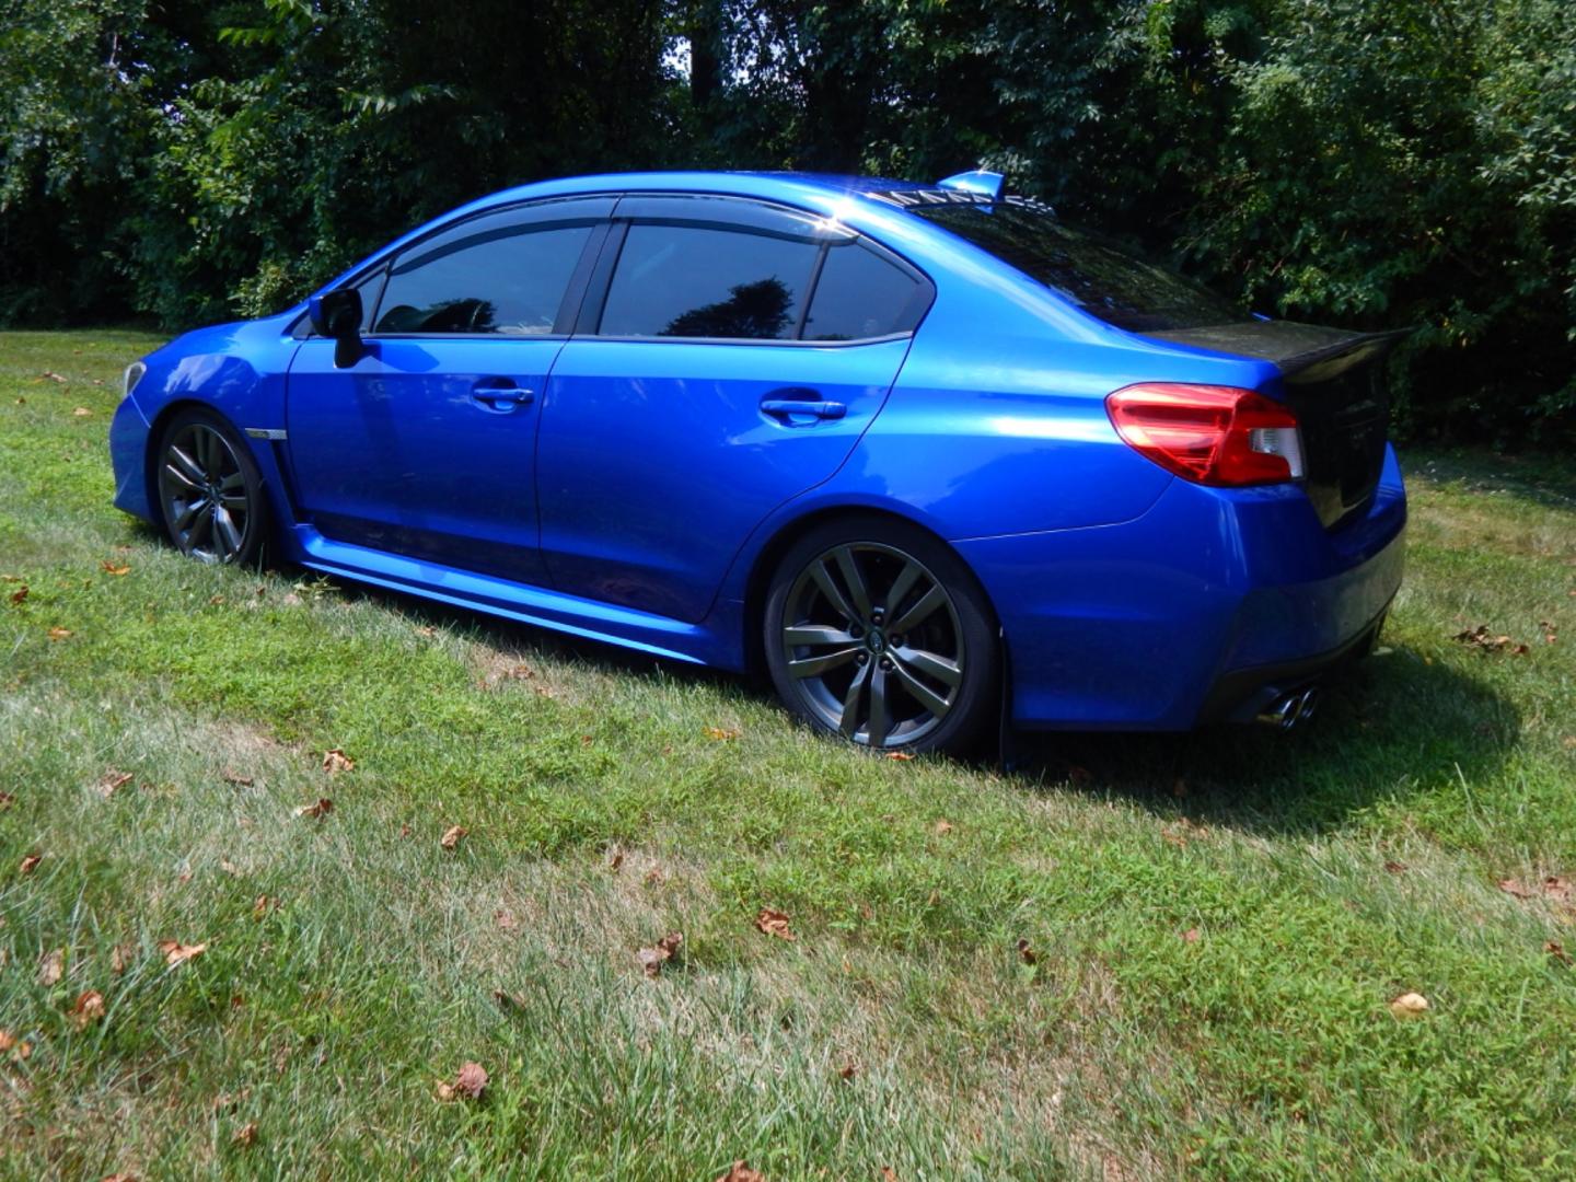
[[[553,586],[701,619],[755,525],[843,465],[908,345],[571,340],[537,449]],[[842,414],[771,414],[772,400]]]

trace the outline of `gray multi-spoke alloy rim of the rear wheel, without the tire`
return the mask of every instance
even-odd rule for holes
[[[780,645],[802,709],[865,747],[924,742],[957,708],[969,659],[952,594],[884,542],[812,558],[788,591]]]

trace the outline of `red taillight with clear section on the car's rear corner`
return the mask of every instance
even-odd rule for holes
[[[1236,386],[1146,381],[1105,399],[1116,433],[1198,484],[1275,484],[1302,476],[1297,416]]]

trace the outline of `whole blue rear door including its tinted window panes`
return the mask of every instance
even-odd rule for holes
[[[750,530],[832,476],[930,284],[848,230],[725,197],[627,197],[537,451],[553,585],[684,621]]]

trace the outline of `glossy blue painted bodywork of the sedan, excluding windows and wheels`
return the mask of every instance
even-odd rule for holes
[[[374,334],[348,369],[310,336],[303,303],[147,358],[110,429],[115,504],[156,520],[150,448],[170,413],[203,405],[241,432],[285,433],[246,444],[287,558],[725,668],[747,662],[775,544],[824,514],[894,514],[947,541],[980,580],[1026,727],[1185,728],[1223,673],[1360,637],[1401,577],[1393,452],[1368,511],[1336,530],[1295,484],[1171,476],[1122,443],[1105,396],[1193,381],[1281,397],[1277,366],[1124,333],[872,195],[925,188],[632,173],[473,202],[323,292],[506,206],[597,195],[616,221],[626,194],[712,194],[879,243],[928,277],[933,301],[913,334],[820,345],[605,339],[574,325],[582,306],[569,299],[556,336]],[[577,273],[585,290],[611,262],[599,251]],[[503,405],[487,389],[531,397]]]

